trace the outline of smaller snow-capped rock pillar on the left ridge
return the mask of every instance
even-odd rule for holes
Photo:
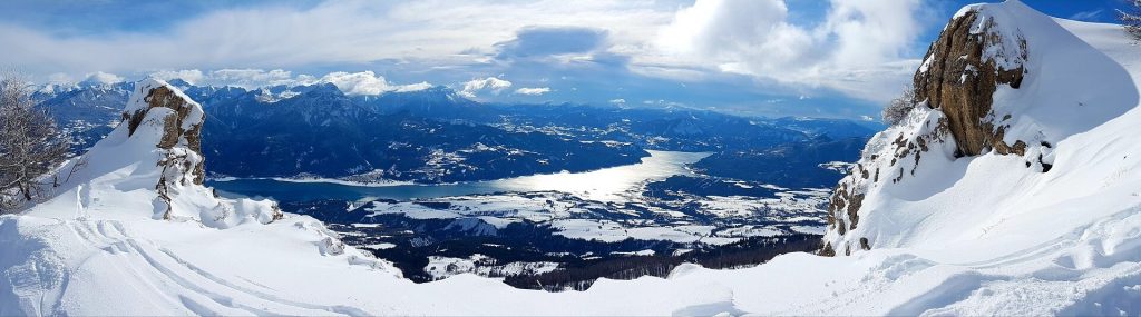
[[[163,81],[135,84],[122,123],[107,139],[107,148],[92,147],[91,155],[138,155],[154,157],[154,218],[200,221],[227,228],[245,221],[268,223],[284,216],[270,201],[227,200],[203,186],[202,127],[205,113],[178,88]],[[116,139],[124,138],[124,139]],[[100,141],[102,144],[103,141]],[[98,158],[98,157],[96,157]],[[122,157],[124,162],[131,157]],[[146,164],[146,163],[144,163]],[[138,169],[136,174],[143,174]]]

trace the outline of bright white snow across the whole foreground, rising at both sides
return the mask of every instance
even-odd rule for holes
[[[1141,50],[1115,25],[1050,19],[1020,3],[987,10],[1033,29],[1030,51],[1067,52],[1031,54],[1039,64],[1021,92],[996,94],[1026,114],[1012,129],[1061,138],[1053,168],[995,154],[926,165],[911,190],[868,201],[898,210],[864,217],[858,234],[874,238],[871,251],[786,254],[738,270],[683,266],[585,292],[516,290],[475,275],[413,284],[319,221],[196,185],[188,166],[200,156],[186,131],[201,124],[201,107],[187,103],[186,112],[149,109],[132,135],[120,125],[55,198],[0,217],[0,315],[1141,314]],[[1099,51],[1109,58],[1090,59]],[[1107,80],[1131,82],[1091,87],[1123,86]],[[139,84],[127,111],[145,108],[147,89],[164,84]],[[1104,117],[1067,125],[1074,115],[1049,113],[1075,98]],[[155,147],[172,124],[183,137]],[[187,164],[155,163],[170,157]]]

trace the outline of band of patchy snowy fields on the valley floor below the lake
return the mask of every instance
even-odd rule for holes
[[[709,216],[707,219],[693,219],[689,214],[667,206],[636,201],[638,209],[653,213],[653,217],[645,217],[632,208],[633,203],[585,201],[559,192],[501,193],[406,202],[375,201],[363,209],[370,212],[369,217],[393,214],[411,219],[455,219],[450,227],[464,226],[464,230],[475,227],[504,229],[511,223],[526,222],[550,226],[556,229],[555,234],[567,238],[607,243],[632,238],[721,245],[744,237],[794,233],[777,227],[823,223],[827,190],[791,190],[777,195],[775,198],[705,196],[691,201],[701,205],[699,212]],[[625,219],[631,216],[644,218]],[[366,218],[363,221],[369,220]],[[733,228],[750,221],[767,228]],[[719,228],[728,230],[714,235],[713,231]],[[487,233],[494,234],[494,230]]]

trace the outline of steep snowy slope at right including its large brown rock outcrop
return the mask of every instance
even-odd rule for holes
[[[1141,51],[1115,29],[1078,32],[1099,49],[1020,2],[964,8],[916,73],[921,105],[841,181],[831,247],[1011,252],[1134,208]]]

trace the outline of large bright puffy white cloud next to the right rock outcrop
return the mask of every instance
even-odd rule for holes
[[[914,71],[917,0],[832,0],[815,26],[790,22],[779,0],[697,0],[658,33],[658,46],[730,73],[848,95],[890,98]]]

